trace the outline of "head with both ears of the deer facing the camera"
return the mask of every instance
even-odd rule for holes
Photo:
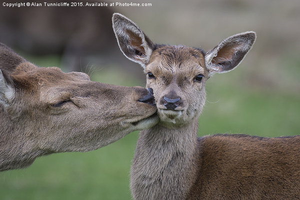
[[[139,63],[146,86],[153,88],[157,112],[165,126],[180,126],[199,116],[205,102],[205,82],[214,73],[234,69],[250,50],[255,32],[222,40],[211,50],[154,44],[130,19],[114,13],[113,30],[123,54]]]

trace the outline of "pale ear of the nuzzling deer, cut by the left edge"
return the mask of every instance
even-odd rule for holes
[[[6,77],[0,69],[0,104],[8,106],[13,97],[14,89],[7,83]]]

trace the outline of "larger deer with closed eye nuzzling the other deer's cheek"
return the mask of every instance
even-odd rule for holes
[[[151,89],[37,67],[0,43],[0,171],[88,151],[157,122]]]

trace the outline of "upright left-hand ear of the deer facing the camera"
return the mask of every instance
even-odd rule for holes
[[[145,67],[154,46],[152,41],[134,22],[122,14],[114,13],[112,15],[112,27],[124,55]]]

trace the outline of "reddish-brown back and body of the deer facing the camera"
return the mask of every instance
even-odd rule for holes
[[[186,199],[297,199],[300,136],[198,138],[197,180]]]

